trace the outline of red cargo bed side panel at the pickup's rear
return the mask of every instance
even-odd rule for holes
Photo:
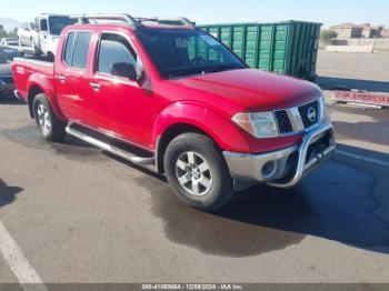
[[[29,82],[32,82],[32,74],[37,78],[47,79],[51,84],[53,83],[54,77],[54,66],[52,62],[27,59],[27,58],[16,58],[12,66],[13,79],[16,87],[18,88],[19,94],[27,101],[28,88],[30,88]]]

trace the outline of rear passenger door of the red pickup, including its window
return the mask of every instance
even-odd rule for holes
[[[70,31],[61,60],[57,60],[54,66],[57,97],[63,114],[69,120],[88,126],[93,126],[87,110],[91,97],[88,71],[91,39],[90,31]]]

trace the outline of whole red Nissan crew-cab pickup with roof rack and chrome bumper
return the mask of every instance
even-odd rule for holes
[[[84,17],[54,63],[12,70],[47,140],[68,133],[152,167],[203,211],[256,183],[291,188],[335,150],[316,84],[248,68],[187,19]]]

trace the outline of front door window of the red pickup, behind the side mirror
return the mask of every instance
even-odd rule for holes
[[[137,54],[124,37],[114,33],[102,33],[97,71],[111,74],[114,63],[130,63],[137,68]]]

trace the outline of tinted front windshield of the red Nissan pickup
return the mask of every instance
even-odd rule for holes
[[[200,30],[142,28],[137,33],[163,78],[247,68],[223,44]]]

